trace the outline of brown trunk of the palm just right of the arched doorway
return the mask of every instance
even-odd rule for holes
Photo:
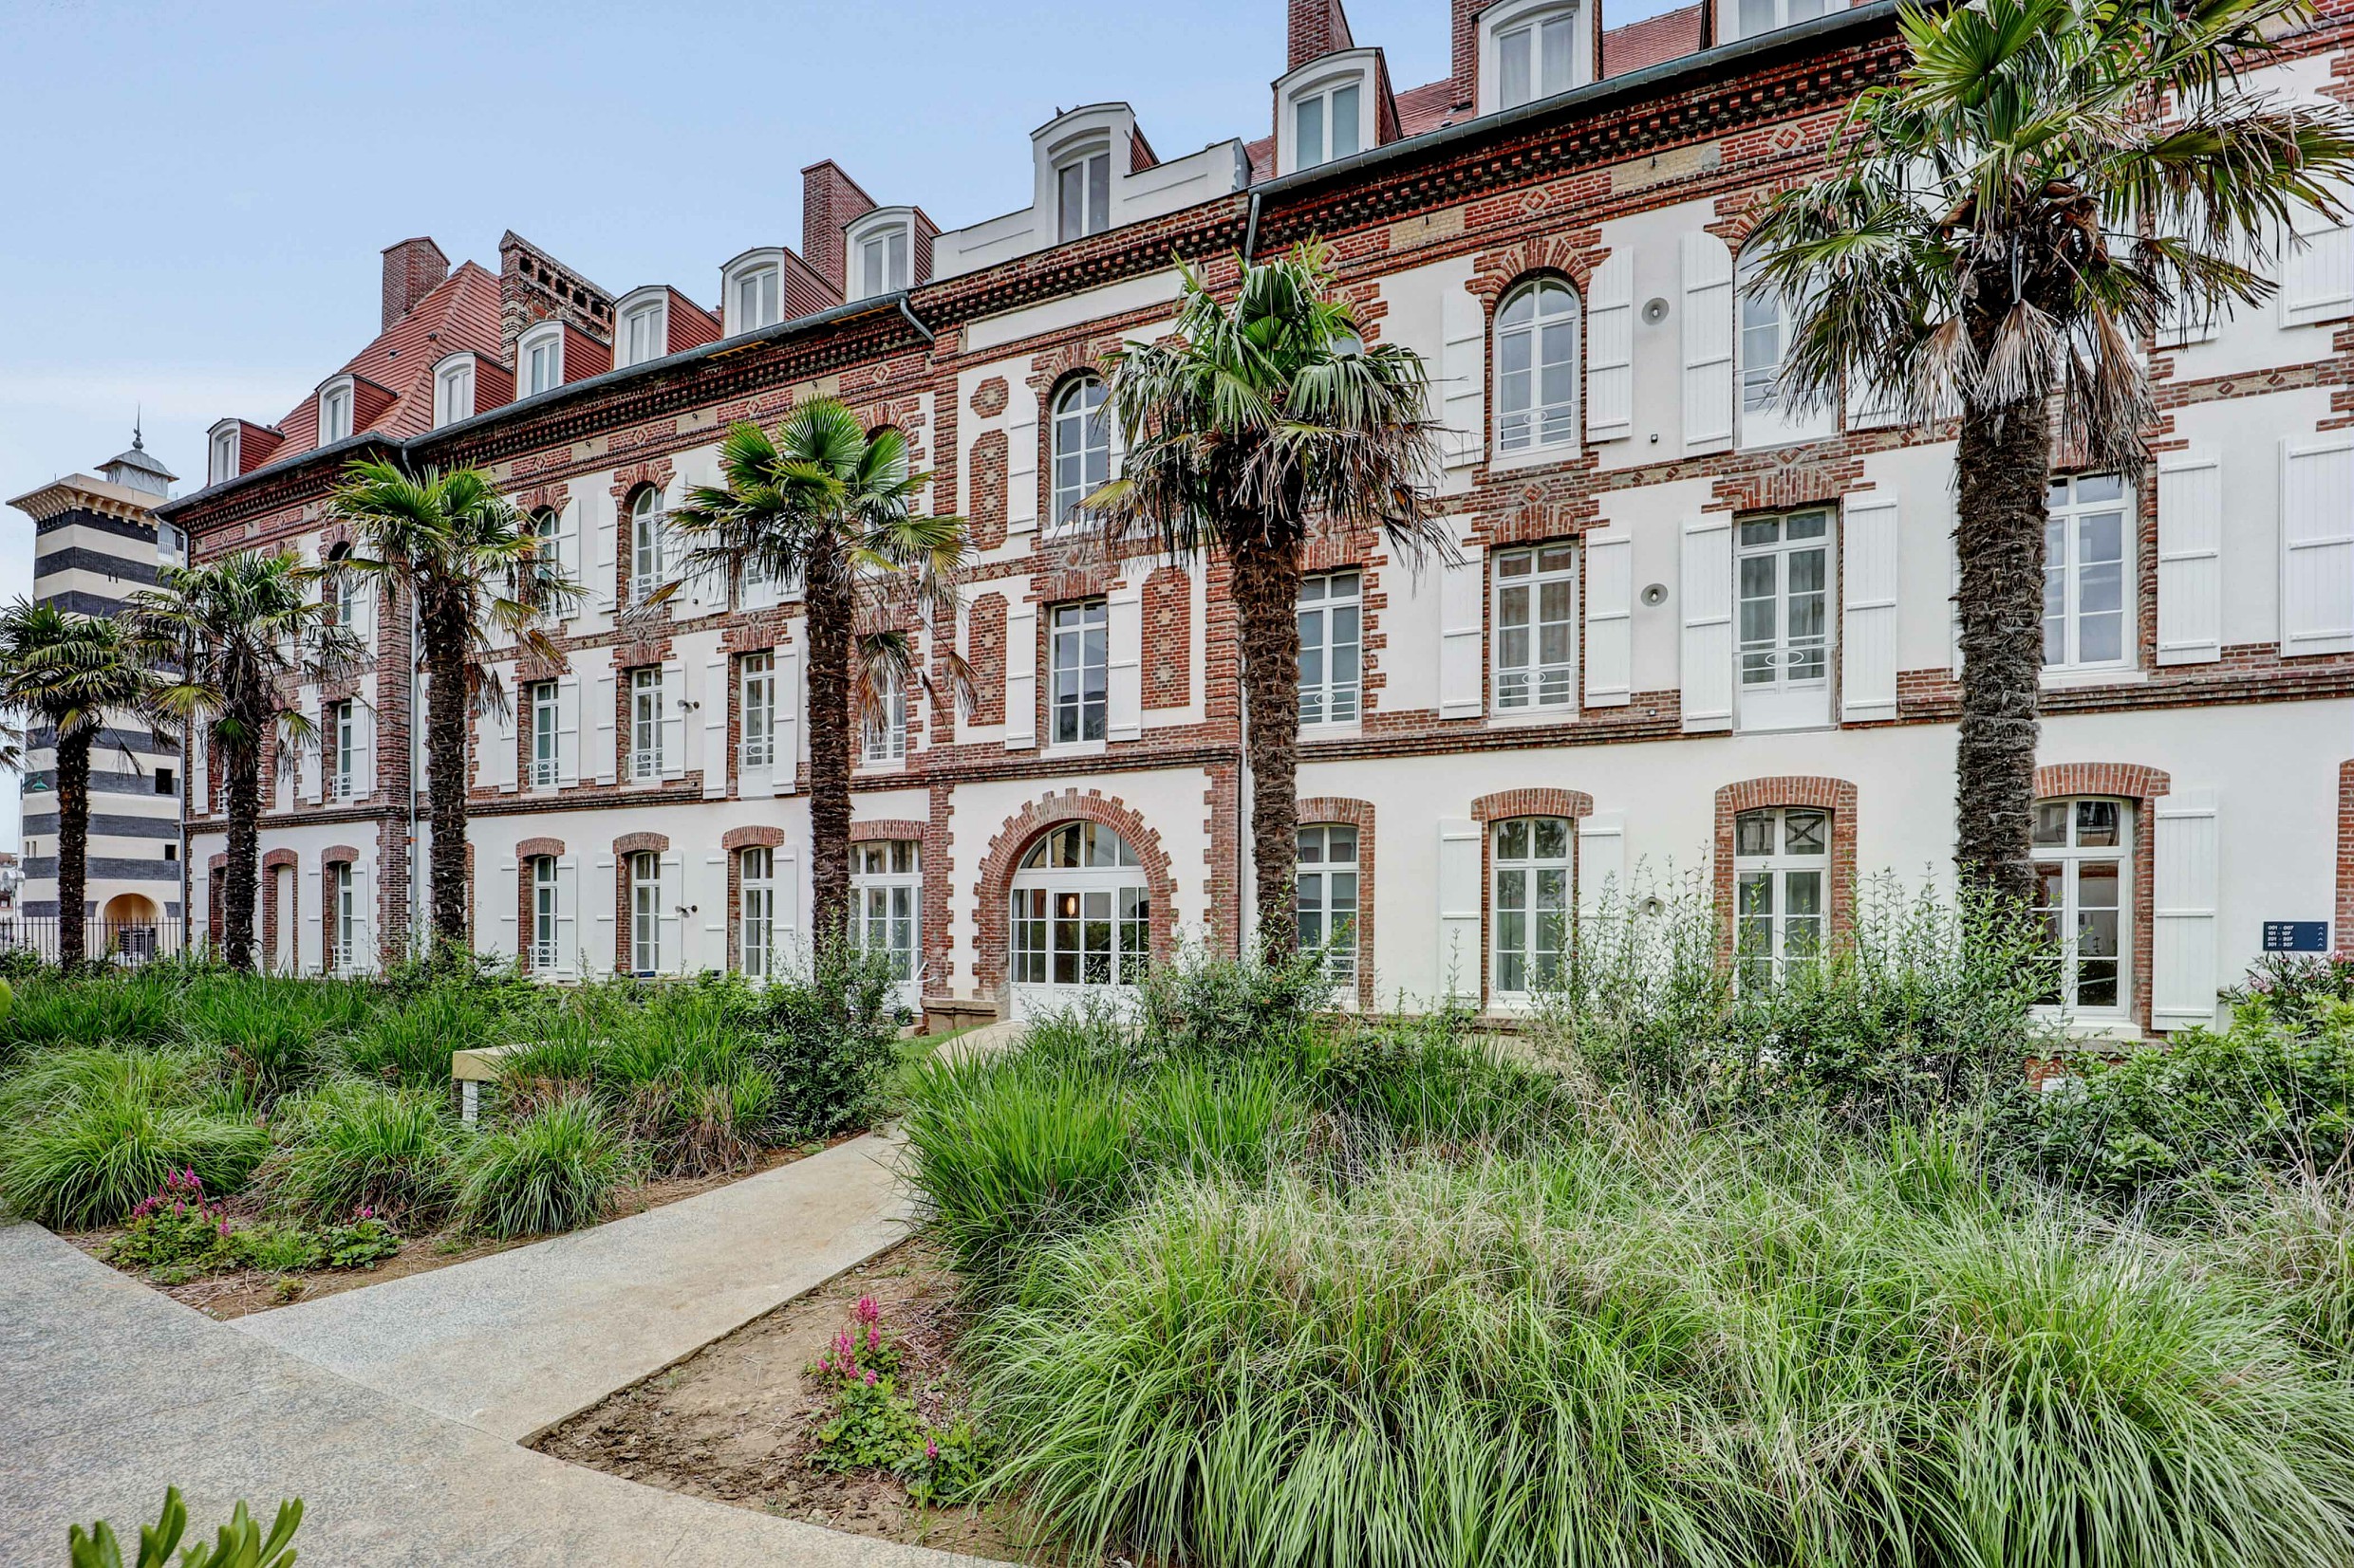
[[[1238,527],[1229,538],[1248,538]],[[1243,623],[1243,755],[1250,762],[1250,865],[1257,945],[1266,959],[1299,950],[1299,545],[1252,538],[1231,552]]]

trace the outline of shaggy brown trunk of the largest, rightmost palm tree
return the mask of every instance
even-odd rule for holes
[[[1954,456],[1961,505],[1961,743],[1954,860],[1973,884],[2034,903],[2036,708],[2043,682],[2043,496],[2050,409],[1968,409]]]

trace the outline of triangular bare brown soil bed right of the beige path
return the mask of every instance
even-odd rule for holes
[[[1022,1514],[1010,1502],[927,1509],[909,1500],[897,1476],[810,1465],[829,1403],[805,1368],[852,1326],[862,1295],[876,1300],[885,1333],[899,1340],[899,1385],[937,1420],[960,1396],[949,1356],[958,1328],[956,1274],[918,1239],[612,1394],[534,1448],[626,1481],[852,1535],[1045,1561],[1026,1552]]]

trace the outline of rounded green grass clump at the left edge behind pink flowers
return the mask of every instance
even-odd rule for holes
[[[0,1088],[0,1208],[59,1229],[125,1218],[174,1171],[245,1185],[268,1152],[252,1119],[200,1103],[188,1053],[49,1051]]]

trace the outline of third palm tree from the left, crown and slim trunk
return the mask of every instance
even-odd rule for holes
[[[381,581],[386,604],[417,607],[417,668],[426,701],[426,804],[433,818],[433,936],[466,940],[466,715],[501,712],[506,691],[478,663],[494,630],[563,661],[541,621],[581,588],[553,545],[476,468],[421,477],[386,458],[353,458],[327,515],[353,527],[337,571]]]

